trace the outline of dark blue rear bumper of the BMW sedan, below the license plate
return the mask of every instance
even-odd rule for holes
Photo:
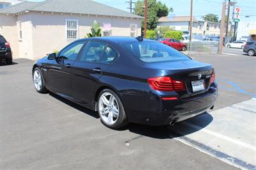
[[[156,96],[144,98],[141,105],[144,108],[141,110],[127,110],[128,120],[132,123],[140,123],[145,125],[169,125],[171,122],[179,122],[186,120],[198,114],[209,111],[218,96],[218,88],[215,84],[209,91],[189,98],[179,98],[178,100],[161,100],[161,97]],[[152,101],[154,98],[154,101]],[[144,104],[148,104],[144,107]]]

